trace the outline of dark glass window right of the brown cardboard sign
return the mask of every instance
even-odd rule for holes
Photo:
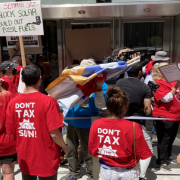
[[[163,22],[124,24],[124,46],[129,48],[154,47],[162,50]]]

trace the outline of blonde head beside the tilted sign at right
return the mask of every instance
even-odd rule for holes
[[[159,71],[159,67],[162,67],[162,66],[166,66],[168,65],[168,63],[166,62],[161,62],[161,63],[155,63],[154,66],[153,66],[153,69],[152,69],[152,78],[154,81],[157,81],[157,80],[162,80],[164,79],[163,75],[161,74],[161,72]]]

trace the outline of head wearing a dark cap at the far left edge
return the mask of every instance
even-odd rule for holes
[[[1,70],[3,75],[8,76],[9,78],[11,78],[11,76],[16,75],[16,73],[17,73],[16,68],[18,66],[19,66],[18,64],[14,64],[13,62],[4,61],[0,65],[0,70]]]

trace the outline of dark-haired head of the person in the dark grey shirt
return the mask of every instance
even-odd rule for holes
[[[142,64],[139,62],[131,67],[131,69],[127,72],[129,77],[136,77],[141,79],[142,77]]]

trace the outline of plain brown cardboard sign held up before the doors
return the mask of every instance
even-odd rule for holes
[[[109,56],[111,48],[110,28],[66,30],[65,42],[72,60],[104,58]]]

